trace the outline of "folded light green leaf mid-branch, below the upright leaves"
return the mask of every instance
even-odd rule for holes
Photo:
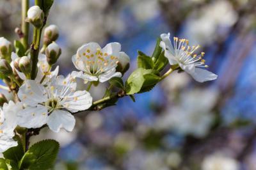
[[[152,69],[138,68],[128,77],[125,83],[125,91],[127,95],[141,93],[145,88],[154,87],[159,82],[159,72]],[[150,89],[152,89],[150,88]],[[141,91],[142,89],[142,91]]]

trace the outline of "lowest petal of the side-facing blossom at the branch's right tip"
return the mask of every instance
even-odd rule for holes
[[[202,68],[195,68],[195,72],[189,72],[189,74],[198,82],[213,81],[218,77],[218,75]]]

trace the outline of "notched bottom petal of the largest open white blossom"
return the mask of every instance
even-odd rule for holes
[[[71,132],[76,124],[76,120],[70,112],[55,110],[49,116],[47,125],[53,132],[59,132],[60,128]]]

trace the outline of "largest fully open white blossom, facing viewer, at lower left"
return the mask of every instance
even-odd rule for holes
[[[68,75],[51,79],[42,85],[26,80],[20,86],[18,96],[27,107],[18,112],[19,125],[38,128],[47,124],[53,132],[60,128],[72,131],[76,120],[70,112],[83,111],[92,105],[92,97],[87,91],[75,91],[74,77]]]

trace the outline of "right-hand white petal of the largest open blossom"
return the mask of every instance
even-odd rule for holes
[[[84,111],[91,107],[92,96],[88,91],[76,91],[63,100],[62,105],[70,112]]]

